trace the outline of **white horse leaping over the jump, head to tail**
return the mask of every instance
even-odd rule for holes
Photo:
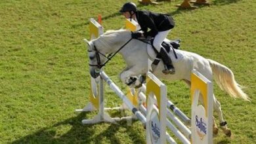
[[[137,39],[131,39],[131,31],[124,29],[107,31],[104,35],[93,41],[87,41],[87,43],[89,48],[90,74],[94,78],[98,77],[98,69],[105,64],[106,54],[118,52],[123,56],[127,66],[120,73],[120,79],[125,84],[131,82],[130,77],[146,74],[148,71],[148,59],[152,60],[147,52],[147,44]],[[240,85],[235,81],[234,75],[228,67],[213,60],[205,59],[192,52],[186,52],[184,50],[176,50],[176,52],[179,54],[179,60],[174,60],[173,52],[169,52],[169,56],[173,59],[173,66],[175,67],[176,73],[174,75],[163,74],[161,71],[164,66],[160,62],[156,70],[153,71],[154,75],[160,79],[169,81],[183,80],[190,86],[191,71],[192,69],[196,69],[210,81],[213,80],[214,76],[219,87],[233,98],[242,98],[250,101],[248,96],[240,88]],[[230,136],[231,131],[227,128],[226,121],[223,118],[221,104],[214,95],[213,99],[213,107],[218,113],[221,129],[224,134]],[[218,128],[215,122],[213,123],[213,133],[217,134]]]

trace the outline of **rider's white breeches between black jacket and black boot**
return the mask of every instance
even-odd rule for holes
[[[170,31],[171,29],[167,31],[159,31],[156,37],[154,37],[153,46],[158,50],[158,52],[161,50],[161,43],[163,43],[163,40],[167,37]]]

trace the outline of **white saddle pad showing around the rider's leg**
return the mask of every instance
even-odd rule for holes
[[[169,40],[165,39],[165,41],[168,42]],[[150,56],[150,58],[156,59],[156,52],[152,48],[152,45],[150,45],[150,44],[147,45],[147,52],[148,52],[148,56]],[[175,52],[176,52],[177,58],[175,57],[173,48],[170,49],[169,56],[171,57],[171,61],[178,62],[179,60],[182,60],[183,55],[181,54],[181,52],[179,52],[179,50],[175,50]]]

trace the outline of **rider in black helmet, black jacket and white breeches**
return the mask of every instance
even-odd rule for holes
[[[125,18],[130,18],[138,22],[141,27],[140,31],[132,33],[132,37],[137,39],[139,37],[154,37],[153,46],[158,50],[165,69],[163,73],[174,74],[175,69],[171,62],[171,58],[168,56],[165,48],[161,46],[163,40],[167,37],[168,33],[175,26],[175,22],[171,16],[167,14],[159,14],[156,12],[150,12],[148,10],[137,10],[135,3],[125,3],[119,12],[123,13]],[[148,28],[150,31],[148,31]]]

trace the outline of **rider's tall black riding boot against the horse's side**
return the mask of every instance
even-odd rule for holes
[[[163,69],[162,72],[165,74],[175,74],[173,63],[171,63],[171,58],[168,56],[166,50],[164,48],[161,48],[159,54],[161,56],[161,60],[163,60],[163,63],[165,65],[165,69]]]

